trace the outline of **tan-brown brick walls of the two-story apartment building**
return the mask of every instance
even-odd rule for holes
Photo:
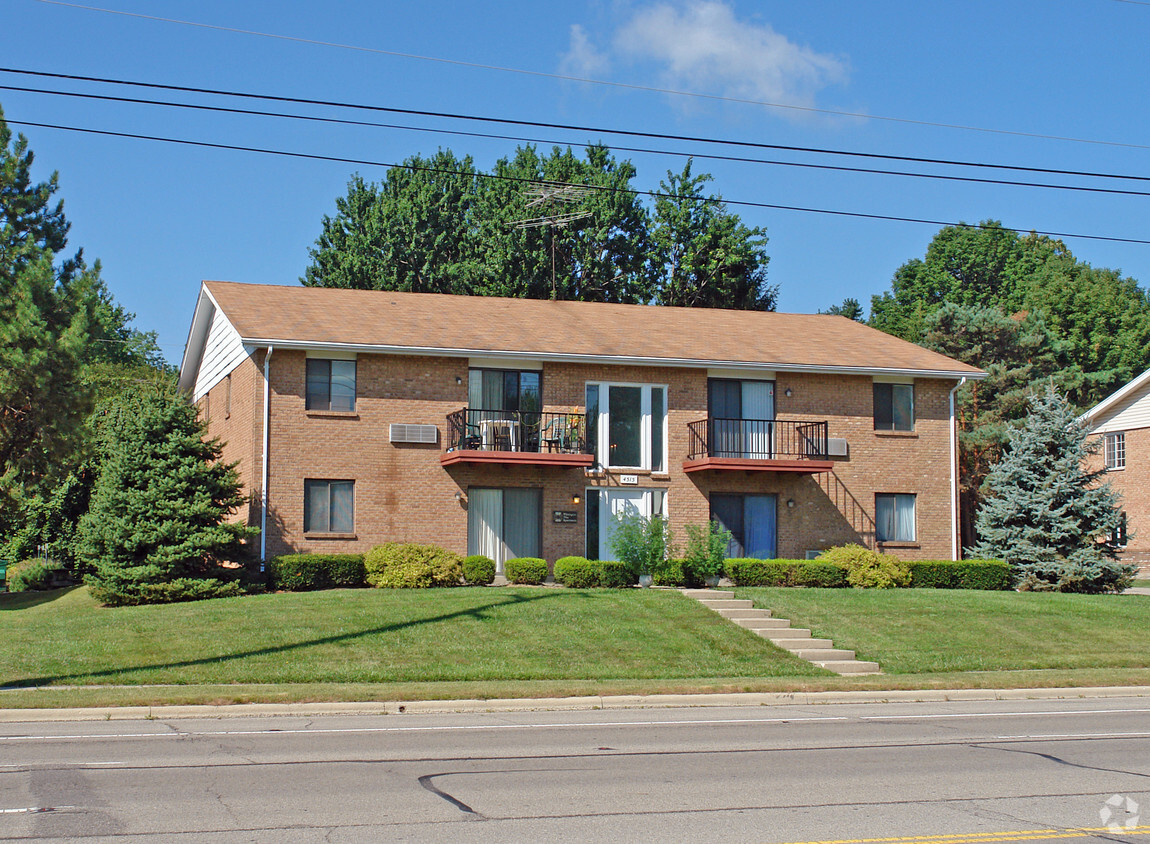
[[[467,404],[466,359],[361,354],[354,414],[305,411],[305,354],[277,350],[271,358],[271,445],[268,555],[289,551],[362,551],[388,540],[432,542],[467,550],[470,486],[530,486],[543,492],[543,553],[549,560],[584,552],[585,505],[573,494],[619,485],[618,474],[588,477],[582,469],[505,465],[455,465],[439,456],[446,416]],[[231,417],[221,420],[221,384],[212,392],[212,433],[228,440],[225,459],[239,460],[247,489],[258,498],[262,446],[263,350],[256,350],[232,378]],[[458,383],[457,383],[458,379]],[[874,431],[872,381],[867,376],[779,374],[776,415],[781,420],[826,420],[830,437],[843,437],[849,458],[834,459],[829,474],[682,470],[688,423],[707,414],[706,370],[669,367],[547,363],[544,411],[583,409],[589,381],[641,382],[668,386],[668,466],[661,475],[637,474],[638,488],[668,490],[668,513],[680,537],[688,523],[710,514],[712,492],[779,496],[780,557],[802,558],[808,548],[848,542],[874,545],[875,492],[917,494],[918,540],[884,550],[907,559],[951,554],[950,440],[948,392],[953,382],[915,382],[913,433]],[[785,396],[790,389],[792,396]],[[237,397],[243,394],[243,402]],[[431,423],[435,446],[393,445],[391,422]],[[304,479],[355,481],[355,532],[305,536]],[[635,488],[630,488],[635,489]],[[463,493],[462,500],[455,493]],[[787,507],[788,499],[795,501]],[[578,511],[578,523],[553,524],[553,509]],[[252,517],[258,523],[258,507]]]

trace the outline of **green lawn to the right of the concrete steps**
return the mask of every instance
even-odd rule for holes
[[[887,674],[1150,668],[1145,596],[739,589]],[[1116,675],[1118,676],[1118,675]]]

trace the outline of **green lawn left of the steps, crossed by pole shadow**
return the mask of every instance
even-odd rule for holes
[[[105,608],[77,588],[0,596],[0,686],[825,674],[666,590],[361,589]]]

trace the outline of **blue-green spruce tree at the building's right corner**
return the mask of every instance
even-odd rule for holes
[[[1052,385],[1030,399],[1030,415],[1013,429],[990,473],[971,554],[1007,562],[1025,590],[1121,591],[1134,567],[1118,562],[1111,542],[1119,501],[1101,470],[1084,460],[1097,450]]]

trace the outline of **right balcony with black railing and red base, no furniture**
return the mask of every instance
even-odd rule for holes
[[[826,422],[704,419],[687,425],[683,471],[830,471]]]

